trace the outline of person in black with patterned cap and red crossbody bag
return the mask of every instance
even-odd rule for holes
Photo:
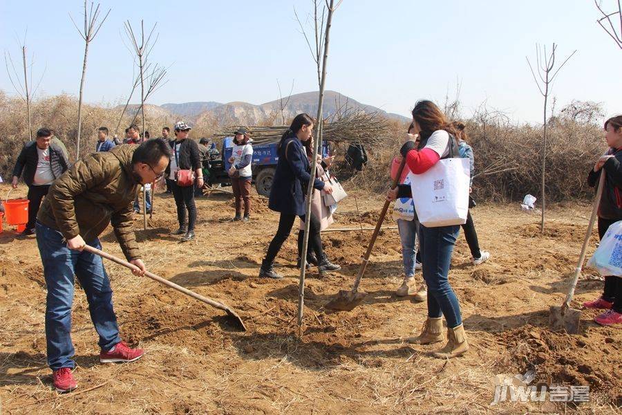
[[[196,174],[196,185],[203,187],[203,172],[201,169],[201,156],[198,151],[196,141],[189,140],[188,134],[191,127],[183,121],[176,122],[174,127],[175,140],[171,141],[173,156],[169,167],[167,167],[167,177],[173,181],[173,196],[177,205],[178,230],[171,232],[173,235],[184,235],[182,241],[194,239],[194,225],[196,223],[196,204],[194,202],[194,186],[182,187],[177,184],[176,172],[178,170],[194,170]],[[186,210],[188,211],[188,225],[186,226]]]

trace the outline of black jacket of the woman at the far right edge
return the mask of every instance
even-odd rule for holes
[[[599,217],[612,221],[622,219],[622,149],[609,149],[607,154],[613,155],[603,165],[605,169],[605,187],[603,187],[603,195],[601,196],[601,204],[599,205]],[[590,169],[587,175],[587,184],[594,187],[599,183],[601,178],[600,169],[594,172]]]

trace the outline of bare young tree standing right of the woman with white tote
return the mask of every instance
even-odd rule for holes
[[[531,67],[531,62],[529,62],[529,57],[525,57],[527,59],[527,64],[529,65],[529,69],[531,69],[531,75],[534,75],[534,81],[536,82],[536,86],[538,86],[538,91],[544,97],[544,122],[543,122],[543,144],[542,144],[542,219],[540,221],[540,232],[544,232],[544,222],[545,222],[545,173],[547,167],[547,100],[549,98],[549,94],[551,93],[552,83],[555,80],[556,75],[559,73],[560,69],[568,62],[568,59],[572,57],[576,53],[574,50],[566,60],[554,71],[555,68],[555,53],[557,50],[557,45],[553,44],[553,48],[551,53],[547,53],[547,47],[540,48],[540,45],[536,44],[536,70],[538,71],[538,77],[536,77],[536,72],[534,72],[534,68]],[[539,78],[539,80],[538,80]]]

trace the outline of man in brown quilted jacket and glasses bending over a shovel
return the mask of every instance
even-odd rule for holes
[[[170,156],[170,147],[164,140],[93,153],[58,178],[41,205],[36,226],[48,288],[48,365],[59,392],[77,387],[71,373],[75,367],[70,337],[73,275],[84,288],[91,320],[100,335],[100,362],[133,362],[144,353],[121,341],[102,258],[83,249],[86,243],[101,248],[98,237],[111,223],[125,257],[140,268],[134,274],[144,274],[131,203],[139,184],[151,183],[164,175]]]

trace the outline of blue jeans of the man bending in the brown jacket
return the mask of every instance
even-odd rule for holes
[[[46,299],[46,342],[48,365],[53,370],[75,367],[71,359],[75,350],[71,341],[71,304],[73,303],[73,275],[84,288],[88,311],[95,330],[100,335],[100,347],[109,351],[118,342],[119,326],[113,311],[110,280],[104,270],[102,258],[89,252],[70,250],[61,232],[37,222],[37,245],[44,277],[48,286]],[[87,241],[88,245],[102,248],[99,239]]]

